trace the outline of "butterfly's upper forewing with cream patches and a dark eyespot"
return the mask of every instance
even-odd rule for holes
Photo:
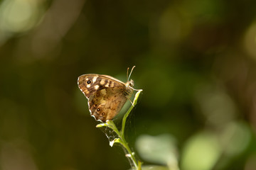
[[[121,87],[125,88],[125,84],[114,77],[100,74],[84,74],[78,77],[78,86],[87,98],[106,88]]]

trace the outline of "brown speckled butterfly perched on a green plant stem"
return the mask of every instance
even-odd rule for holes
[[[95,120],[112,120],[121,111],[127,99],[131,101],[129,98],[134,91],[134,81],[129,81],[128,71],[129,68],[126,83],[102,74],[83,74],[78,77],[78,87],[88,99],[90,114]]]

